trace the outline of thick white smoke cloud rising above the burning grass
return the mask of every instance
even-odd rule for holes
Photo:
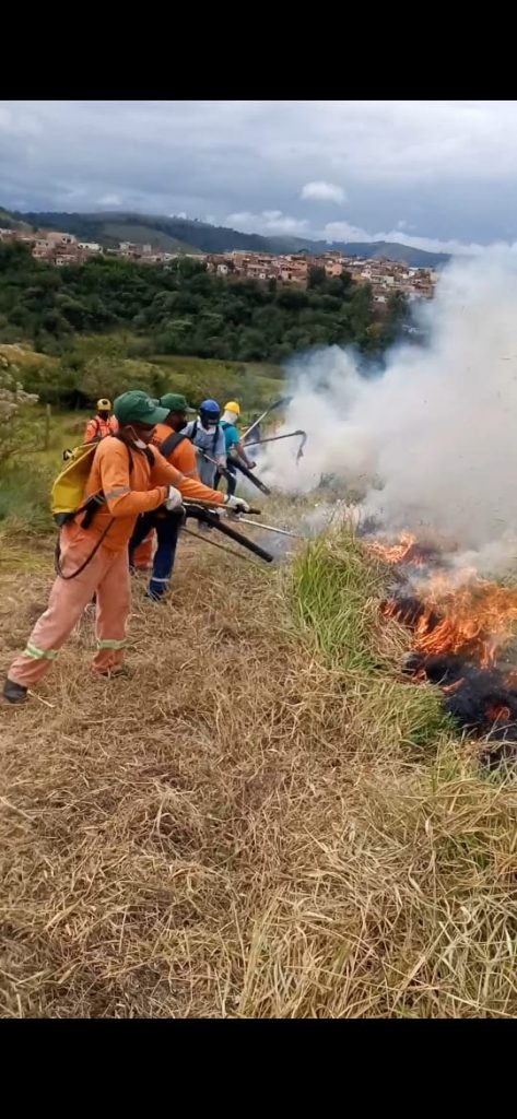
[[[515,254],[453,263],[423,313],[425,347],[398,346],[380,376],[361,376],[339,347],[293,367],[278,434],[306,430],[304,458],[295,464],[295,439],[269,444],[261,477],[309,492],[337,476],[389,532],[438,534],[479,571],[515,567]]]

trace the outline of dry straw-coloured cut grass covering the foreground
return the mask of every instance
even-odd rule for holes
[[[2,667],[48,572],[3,577]],[[349,539],[184,544],[131,680],[90,679],[84,618],[4,712],[2,1016],[516,1015],[517,790],[389,675],[377,579]]]

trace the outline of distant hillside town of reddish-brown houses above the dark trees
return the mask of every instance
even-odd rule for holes
[[[69,264],[84,264],[93,256],[121,256],[139,264],[172,265],[177,260],[190,257],[204,261],[207,270],[217,275],[232,279],[245,278],[279,284],[298,284],[307,288],[310,270],[322,269],[329,279],[340,276],[345,270],[350,273],[357,284],[369,283],[374,293],[374,302],[383,304],[394,292],[400,292],[410,301],[415,299],[432,299],[438,274],[432,269],[410,267],[400,261],[384,257],[367,260],[358,256],[344,256],[337,251],[329,251],[319,256],[308,253],[270,254],[251,253],[234,250],[227,253],[171,253],[156,250],[151,244],[134,244],[121,241],[116,247],[106,248],[96,242],[78,241],[72,233],[39,229],[35,233],[26,229],[0,228],[0,242],[22,242],[30,246],[32,256],[46,261],[56,267]]]

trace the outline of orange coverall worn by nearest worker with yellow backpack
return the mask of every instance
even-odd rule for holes
[[[217,490],[208,489],[197,479],[184,478],[157,449],[153,448],[151,454],[154,455],[152,468],[142,451],[131,448],[133,470],[130,473],[129,450],[121,440],[103,439],[98,444],[85,496],[102,490],[106,502],[88,528],[72,521],[62,529],[63,574],[77,571],[104,530],[106,535],[79,575],[72,580],[58,575],[55,580],[47,610],[36,622],[25,651],[16,657],[9,669],[10,680],[31,687],[41,679],[94,594],[97,655],[93,668],[101,675],[120,670],[131,605],[128,542],[138,515],[162,505],[169,486],[176,486],[185,497],[219,505],[224,500]]]

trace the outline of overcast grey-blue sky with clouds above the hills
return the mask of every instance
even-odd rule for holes
[[[517,243],[517,102],[0,101],[0,206]]]

